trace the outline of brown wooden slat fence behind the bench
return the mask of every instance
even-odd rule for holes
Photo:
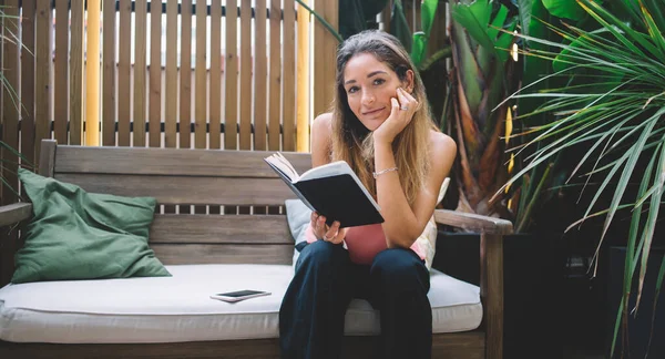
[[[86,53],[90,1],[101,2],[101,53],[94,54]],[[337,0],[306,2],[337,23]],[[420,2],[402,3],[410,9],[408,21],[417,27]],[[2,75],[16,90],[14,95],[0,89],[0,139],[24,158],[0,150],[0,174],[12,187],[18,187],[19,163],[37,162],[42,139],[103,146],[308,151],[309,126],[297,125],[303,111],[296,111],[296,103],[308,103],[305,116],[311,120],[327,111],[332,99],[337,40],[313,17],[297,11],[295,0],[0,0],[0,4],[8,16],[20,17],[6,19],[2,29],[22,44],[0,44]],[[390,22],[389,16],[390,11],[382,12],[381,28]],[[313,45],[304,47],[308,55],[297,55],[298,43],[307,40],[299,38],[298,21],[310,31]],[[311,61],[315,54],[317,61]],[[101,68],[95,84],[99,119],[85,119],[91,85],[85,68],[91,64]],[[298,93],[297,84],[304,82],[298,79],[308,82],[310,91]],[[86,126],[86,120],[99,127]],[[85,143],[85,131],[99,131],[100,143]],[[9,186],[0,184],[0,205],[16,201]],[[190,206],[164,208],[177,211],[188,213]],[[4,246],[17,245],[16,232],[12,236]],[[10,265],[10,257],[0,258],[0,267]]]

